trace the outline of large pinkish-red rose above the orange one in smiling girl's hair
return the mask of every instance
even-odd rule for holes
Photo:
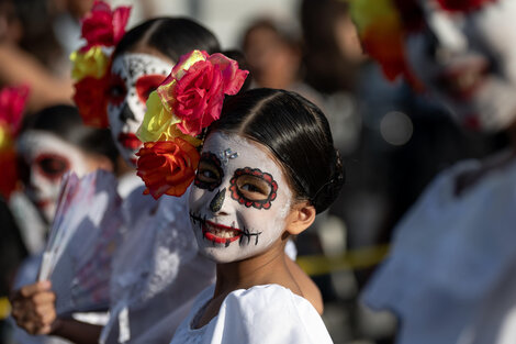
[[[173,88],[173,113],[182,120],[179,130],[183,134],[198,135],[217,120],[224,95],[236,95],[248,74],[238,69],[236,60],[222,54],[213,54],[191,66]]]

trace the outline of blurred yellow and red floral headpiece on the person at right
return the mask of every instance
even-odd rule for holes
[[[404,76],[416,89],[406,63],[404,40],[407,32],[420,29],[417,22],[418,0],[350,0],[351,16],[362,47],[382,67],[389,80]],[[437,0],[445,11],[471,12],[496,0]]]

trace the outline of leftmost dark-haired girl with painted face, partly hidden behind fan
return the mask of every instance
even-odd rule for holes
[[[63,176],[74,171],[81,177],[99,168],[113,171],[117,155],[109,130],[85,126],[77,108],[66,104],[48,107],[26,118],[18,138],[18,153],[24,192],[44,224],[36,225],[27,203],[18,202],[14,212],[19,214],[16,220],[24,236],[38,236],[42,241],[41,249],[56,211]],[[36,233],[37,229],[45,232]],[[40,251],[24,260],[12,290],[36,280],[41,259]],[[13,337],[16,343],[60,343],[54,339],[32,337],[20,329],[14,331]]]

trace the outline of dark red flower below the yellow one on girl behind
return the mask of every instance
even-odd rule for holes
[[[101,79],[86,77],[74,84],[74,101],[86,125],[108,127],[108,92],[110,74]]]

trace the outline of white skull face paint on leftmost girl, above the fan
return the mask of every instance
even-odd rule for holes
[[[88,158],[56,135],[34,130],[20,136],[18,151],[29,168],[27,195],[52,222],[63,176],[68,170],[79,177],[88,174]]]

